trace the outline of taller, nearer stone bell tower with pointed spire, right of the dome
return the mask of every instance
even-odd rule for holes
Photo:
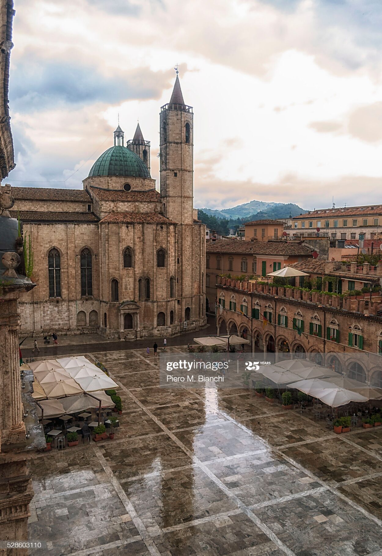
[[[193,224],[193,117],[177,70],[170,102],[160,108],[160,195],[164,215],[184,225]]]

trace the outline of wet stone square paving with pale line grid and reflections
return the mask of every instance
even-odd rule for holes
[[[382,554],[382,427],[335,435],[253,391],[159,388],[145,349],[92,355],[120,385],[120,428],[31,455],[43,553]]]

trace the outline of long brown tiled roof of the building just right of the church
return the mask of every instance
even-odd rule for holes
[[[206,251],[208,253],[311,256],[311,250],[308,247],[286,241],[207,240]]]

